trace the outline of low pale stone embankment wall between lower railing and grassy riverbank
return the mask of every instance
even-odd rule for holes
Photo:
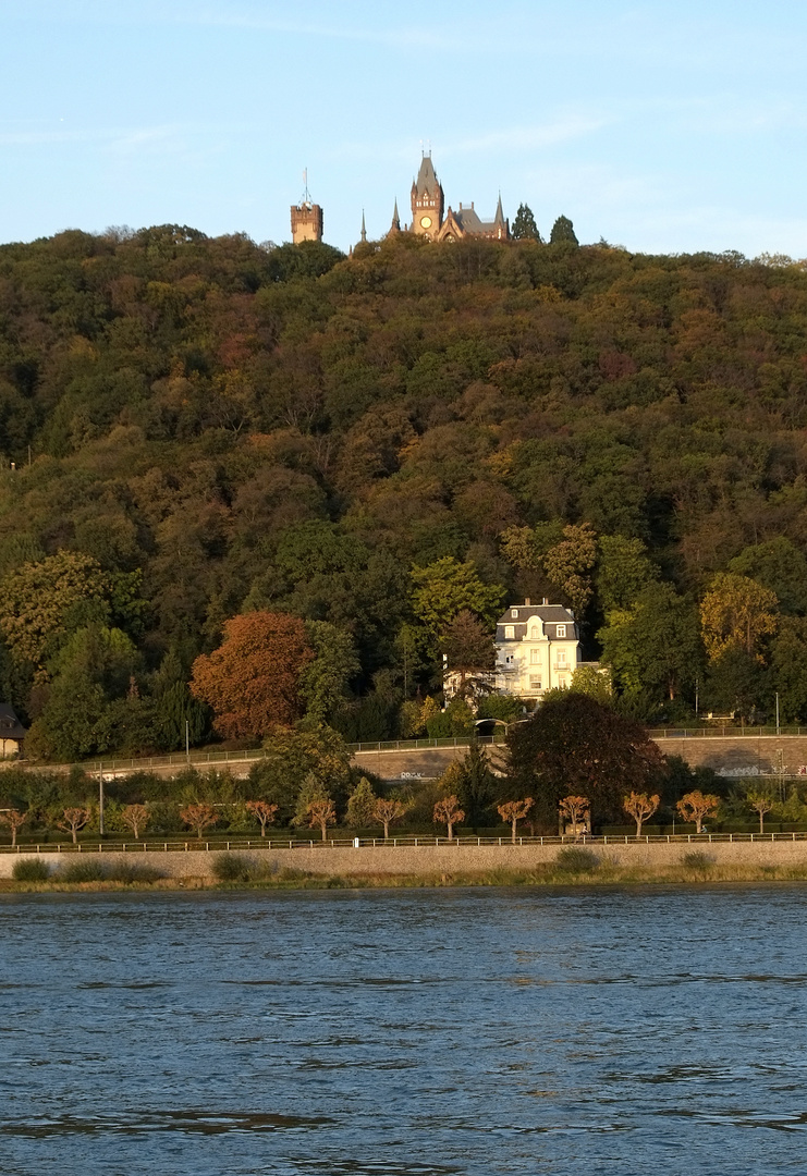
[[[489,870],[528,870],[536,866],[549,864],[558,856],[561,847],[553,846],[475,846],[459,842],[452,846],[362,846],[359,849],[349,847],[319,846],[295,849],[249,849],[232,850],[234,856],[251,860],[266,866],[271,870],[294,869],[309,874],[331,875],[431,875],[483,873]],[[682,862],[686,854],[700,850],[713,858],[718,866],[736,867],[802,867],[807,868],[807,841],[753,841],[753,842],[712,842],[706,838],[694,838],[692,842],[672,843],[643,842],[628,844],[595,843],[589,846],[600,857],[619,866],[663,869]],[[105,853],[102,860],[107,864],[118,862],[141,862],[154,867],[167,877],[213,876],[213,862],[220,850],[188,850],[187,853]],[[0,854],[0,877],[11,877],[14,862],[19,857],[41,856],[51,868],[60,861],[75,861],[74,854],[46,853],[36,854]],[[82,856],[91,856],[86,853]],[[94,856],[94,855],[93,855]]]

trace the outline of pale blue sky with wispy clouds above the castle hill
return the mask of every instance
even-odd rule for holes
[[[0,241],[179,223],[342,249],[446,203],[807,256],[801,0],[0,0]]]

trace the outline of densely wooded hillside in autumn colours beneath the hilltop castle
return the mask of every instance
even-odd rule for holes
[[[175,226],[4,246],[0,575],[89,557],[128,661],[99,670],[74,609],[39,670],[9,637],[0,701],[47,719],[71,673],[107,715],[74,749],[165,746],[193,659],[264,608],[349,634],[365,702],[331,719],[394,734],[439,654],[412,570],[452,557],[502,601],[574,604],[636,714],[698,680],[805,715],[806,425],[798,263],[408,235],[346,259]],[[719,648],[701,602],[748,581],[774,619]],[[114,717],[169,697],[159,737]]]

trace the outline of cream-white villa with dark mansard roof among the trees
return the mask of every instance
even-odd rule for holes
[[[547,690],[566,689],[581,664],[574,613],[543,600],[513,604],[496,624],[494,688],[540,702]]]

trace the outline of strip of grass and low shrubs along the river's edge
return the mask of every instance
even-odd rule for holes
[[[94,864],[94,863],[93,863]],[[166,891],[166,890],[366,890],[431,889],[451,887],[576,887],[669,886],[681,883],[807,882],[805,864],[725,864],[708,854],[685,855],[671,866],[620,866],[587,850],[561,851],[546,864],[531,869],[452,870],[427,874],[309,874],[295,869],[267,869],[262,863],[222,855],[215,877],[162,877],[155,871],[99,870],[81,877],[74,871],[49,877],[0,881],[0,894]]]

